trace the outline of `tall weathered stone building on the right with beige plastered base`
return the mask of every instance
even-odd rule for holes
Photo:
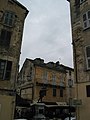
[[[77,120],[90,119],[90,0],[68,0],[71,10]],[[81,102],[79,102],[81,101]]]

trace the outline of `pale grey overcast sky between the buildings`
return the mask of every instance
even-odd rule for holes
[[[18,0],[29,10],[20,65],[26,58],[60,61],[73,67],[70,8],[67,0]]]

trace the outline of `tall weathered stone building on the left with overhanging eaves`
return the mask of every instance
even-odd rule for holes
[[[0,120],[13,120],[15,83],[28,10],[17,0],[0,0]]]

